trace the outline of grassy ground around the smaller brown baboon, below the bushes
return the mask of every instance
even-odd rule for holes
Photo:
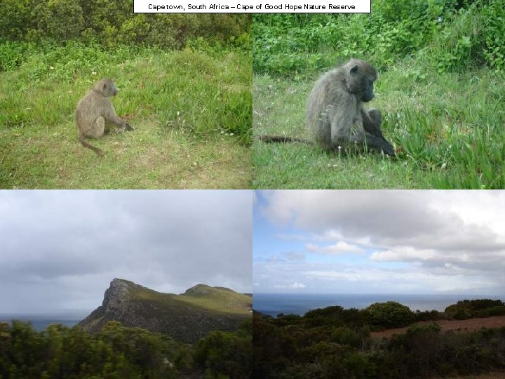
[[[72,46],[0,72],[4,189],[248,188],[251,57],[243,51]],[[79,144],[77,102],[102,77],[135,131]]]

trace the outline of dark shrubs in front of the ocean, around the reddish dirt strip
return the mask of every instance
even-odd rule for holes
[[[493,301],[464,300],[483,309],[496,307]],[[430,317],[447,316],[414,313],[398,302],[327,307],[303,317],[255,313],[252,377],[434,378],[505,368],[505,328],[443,333],[436,323],[412,324]],[[408,324],[390,339],[370,336],[370,330]]]

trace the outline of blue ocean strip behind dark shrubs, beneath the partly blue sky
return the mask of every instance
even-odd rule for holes
[[[422,294],[374,294],[374,293],[254,293],[253,308],[276,317],[277,314],[303,315],[316,308],[339,305],[344,308],[365,308],[374,302],[396,301],[407,305],[413,312],[438,310],[464,299],[492,298],[485,295],[422,295]]]

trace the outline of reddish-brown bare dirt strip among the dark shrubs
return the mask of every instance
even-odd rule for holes
[[[442,327],[442,331],[453,331],[456,329],[476,331],[480,328],[501,328],[505,326],[505,316],[492,316],[484,319],[468,319],[468,320],[439,320],[439,321],[422,321],[417,324],[431,324],[436,322]],[[409,327],[387,329],[385,331],[372,332],[371,337],[375,338],[390,338],[393,334],[405,333]],[[505,378],[505,377],[504,377]]]

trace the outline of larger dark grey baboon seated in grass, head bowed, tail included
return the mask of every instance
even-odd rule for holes
[[[394,149],[382,135],[382,114],[378,109],[363,108],[363,102],[375,97],[375,68],[367,62],[351,59],[323,74],[307,99],[307,131],[310,140],[278,135],[262,135],[264,142],[308,142],[323,149],[363,151],[365,147],[394,155]],[[356,128],[353,128],[356,126]]]

